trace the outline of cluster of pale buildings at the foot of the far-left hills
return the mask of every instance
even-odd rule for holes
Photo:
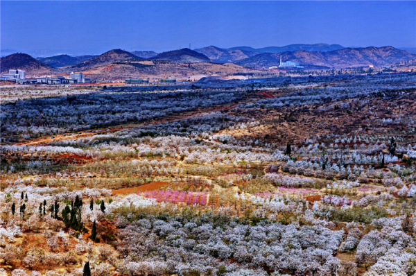
[[[46,84],[46,85],[62,85],[62,84],[75,84],[75,83],[91,83],[89,78],[85,78],[83,73],[69,74],[69,78],[62,76],[57,77],[40,77],[31,80],[26,80],[26,71],[20,69],[9,70],[9,74],[3,74],[0,80],[7,80],[19,84]]]

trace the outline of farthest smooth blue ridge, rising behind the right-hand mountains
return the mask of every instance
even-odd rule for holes
[[[259,49],[254,49],[248,46],[240,46],[229,48],[229,50],[243,50],[243,51],[257,51],[259,53],[282,53],[288,51],[307,51],[307,52],[327,52],[344,49],[343,46],[338,44],[291,44],[286,46],[270,46]]]

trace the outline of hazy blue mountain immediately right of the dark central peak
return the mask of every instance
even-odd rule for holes
[[[229,50],[221,49],[216,46],[209,46],[200,49],[195,49],[198,53],[206,55],[210,60],[218,63],[234,62],[244,58],[250,58],[257,55],[259,52],[246,51],[241,49]]]

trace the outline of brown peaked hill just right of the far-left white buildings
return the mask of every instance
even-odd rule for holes
[[[143,58],[139,58],[137,55],[133,55],[128,51],[123,51],[121,49],[115,49],[111,51],[107,51],[102,55],[98,55],[95,58],[90,60],[85,60],[78,64],[74,64],[68,67],[64,67],[67,71],[82,71],[87,69],[92,69],[96,67],[101,67],[104,65],[112,64],[114,62],[122,62],[127,60],[144,60]]]

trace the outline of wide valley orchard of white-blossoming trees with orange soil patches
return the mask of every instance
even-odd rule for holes
[[[415,275],[415,74],[17,89],[2,275]]]

